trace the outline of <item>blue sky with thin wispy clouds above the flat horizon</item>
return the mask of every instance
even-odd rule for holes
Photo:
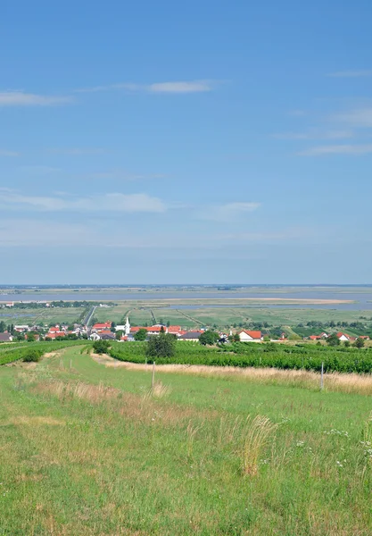
[[[371,283],[371,22],[5,0],[0,282]]]

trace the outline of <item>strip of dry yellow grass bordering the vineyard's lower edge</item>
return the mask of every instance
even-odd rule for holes
[[[113,359],[111,356],[92,357],[99,364],[107,367],[123,367],[131,371],[149,370],[149,365],[128,363]],[[302,370],[280,370],[276,368],[210,366],[204,364],[157,364],[157,373],[184,373],[204,377],[242,379],[265,384],[281,384],[302,387],[305,389],[319,389],[320,375]],[[324,374],[324,389],[334,392],[372,395],[372,374]]]

